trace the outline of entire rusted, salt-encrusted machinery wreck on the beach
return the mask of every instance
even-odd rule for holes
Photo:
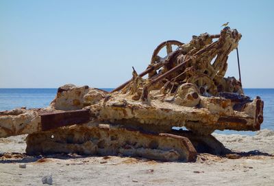
[[[47,108],[0,112],[0,137],[29,134],[28,154],[142,156],[162,161],[195,161],[198,152],[227,149],[214,130],[260,130],[263,101],[243,94],[225,78],[227,59],[241,34],[168,40],[153,52],[147,69],[111,93],[67,84]],[[165,56],[160,56],[161,50]],[[147,75],[147,78],[143,78]],[[173,127],[188,130],[173,130]]]

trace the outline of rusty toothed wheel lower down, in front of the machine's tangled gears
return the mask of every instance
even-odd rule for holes
[[[196,84],[201,95],[216,95],[217,87],[213,80],[206,74],[193,75],[188,79],[189,83]]]

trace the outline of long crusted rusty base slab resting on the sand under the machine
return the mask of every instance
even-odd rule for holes
[[[26,152],[141,156],[160,161],[195,161],[197,156],[186,137],[152,135],[107,124],[84,124],[28,135]]]

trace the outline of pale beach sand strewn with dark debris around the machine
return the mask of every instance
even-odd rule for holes
[[[274,185],[274,131],[261,130],[253,137],[214,136],[242,153],[199,154],[195,163],[77,154],[26,156],[21,154],[26,136],[8,137],[0,139],[0,185],[42,185],[42,177],[48,175],[53,185]],[[26,168],[19,167],[23,163]]]

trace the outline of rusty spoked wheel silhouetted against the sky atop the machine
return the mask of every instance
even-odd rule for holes
[[[151,57],[151,64],[153,65],[156,62],[160,62],[164,59],[166,59],[167,56],[169,56],[169,54],[171,54],[171,52],[173,52],[173,45],[179,47],[180,45],[184,45],[184,43],[181,43],[177,40],[166,40],[163,43],[161,43],[160,45],[158,45],[158,47],[156,47],[156,49],[153,51],[152,57]],[[159,52],[163,49],[166,48],[166,56],[159,56]]]

